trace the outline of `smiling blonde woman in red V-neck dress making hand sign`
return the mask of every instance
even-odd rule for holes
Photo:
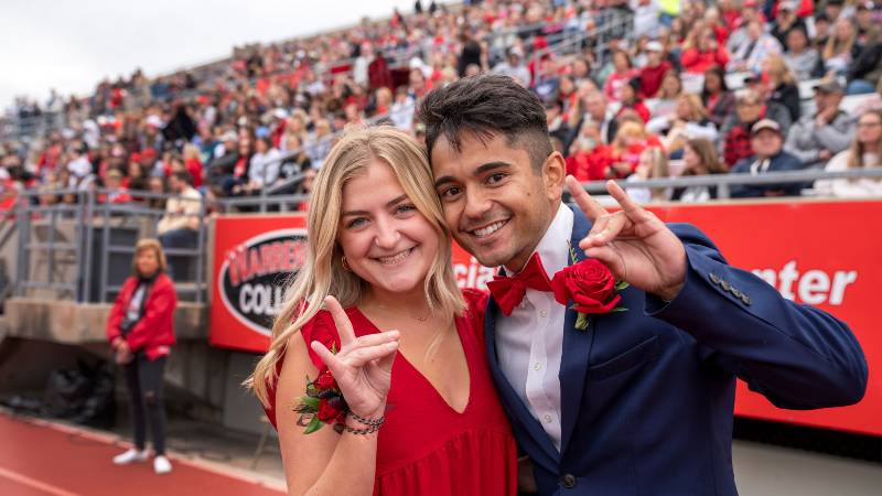
[[[321,208],[309,211],[306,262],[249,381],[279,432],[289,494],[515,494],[482,295],[456,288],[424,150],[391,127],[351,132],[310,203]],[[325,367],[348,414],[308,434],[292,409]]]

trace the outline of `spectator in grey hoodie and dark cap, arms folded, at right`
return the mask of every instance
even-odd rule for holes
[[[854,119],[839,108],[843,94],[835,78],[816,86],[815,115],[803,116],[787,134],[785,149],[805,166],[824,166],[854,136]]]

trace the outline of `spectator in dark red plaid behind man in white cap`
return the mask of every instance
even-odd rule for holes
[[[723,125],[723,160],[731,168],[740,160],[753,155],[751,128],[761,119],[772,119],[779,123],[782,134],[790,126],[786,108],[767,103],[764,95],[755,89],[741,89],[735,94],[735,114]]]

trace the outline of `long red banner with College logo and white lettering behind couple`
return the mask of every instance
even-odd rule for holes
[[[738,414],[882,435],[882,333],[873,325],[879,319],[872,310],[878,288],[882,288],[876,261],[882,254],[882,233],[867,228],[882,218],[882,202],[676,205],[653,211],[665,222],[695,224],[732,266],[752,270],[786,298],[846,321],[867,354],[870,382],[857,406],[781,410],[739,384]],[[212,344],[266,349],[269,331],[258,322],[261,317],[267,322],[278,309],[280,285],[273,284],[288,276],[271,270],[290,270],[302,260],[303,226],[302,216],[217,219]],[[284,260],[268,263],[262,261],[262,252]],[[241,254],[248,258],[243,259]],[[454,247],[453,262],[460,287],[483,288],[494,273],[459,247]]]

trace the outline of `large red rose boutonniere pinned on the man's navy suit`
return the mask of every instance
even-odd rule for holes
[[[573,302],[571,308],[579,312],[576,328],[588,328],[589,315],[627,311],[616,306],[622,300],[619,293],[628,287],[627,282],[616,282],[610,269],[599,260],[587,259],[577,263],[572,248],[570,257],[573,263],[555,274],[551,290],[558,303]]]

